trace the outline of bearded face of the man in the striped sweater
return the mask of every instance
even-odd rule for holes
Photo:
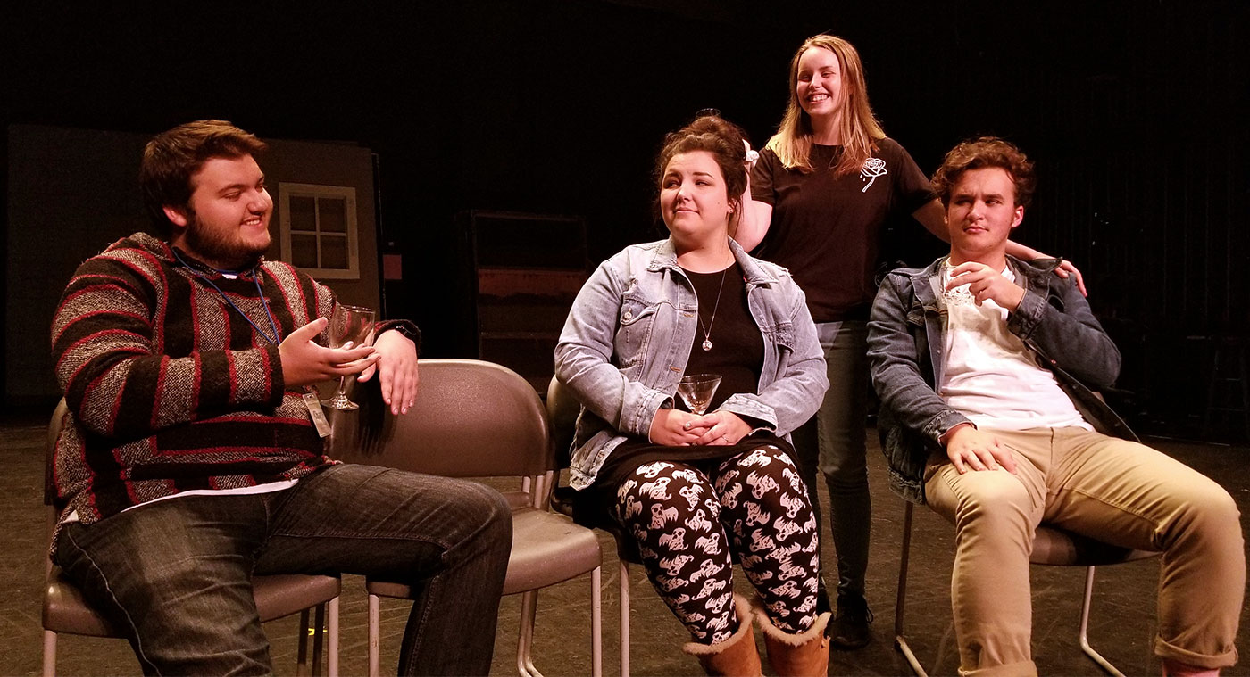
[[[210,157],[191,175],[191,199],[165,206],[171,244],[221,270],[254,266],[269,249],[274,199],[251,155]]]

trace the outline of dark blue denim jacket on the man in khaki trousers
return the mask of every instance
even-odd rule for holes
[[[890,462],[890,488],[915,503],[925,502],[924,471],[938,438],[968,418],[946,405],[941,382],[946,310],[941,266],[899,269],[881,282],[868,324],[868,356],[872,385],[881,397],[878,432]],[[1071,277],[1054,275],[1060,261],[1020,261],[1008,256],[1016,284],[1025,290],[1008,331],[1034,352],[1038,363],[1055,373],[1085,421],[1104,435],[1136,440],[1129,426],[1095,392],[1110,387],[1120,373],[1120,351],[1102,331]]]

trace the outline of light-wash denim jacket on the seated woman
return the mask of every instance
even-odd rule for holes
[[[721,411],[788,436],[829,387],[825,357],[802,290],[790,271],[729,241],[746,281],[746,305],[764,335],[759,395],[735,393]],[[581,402],[570,485],[594,483],[628,437],[648,438],[660,407],[671,408],[699,327],[690,279],[671,240],[632,245],[604,261],[578,294],[555,347],[555,375]]]

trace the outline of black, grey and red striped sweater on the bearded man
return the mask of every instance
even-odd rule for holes
[[[250,275],[230,280],[182,259],[272,332]],[[329,287],[288,264],[259,270],[280,336],[330,315]],[[150,235],[82,264],[51,334],[70,410],[52,468],[62,521],[76,511],[91,523],[181,491],[299,478],[335,462],[301,393],[284,387],[278,346]]]

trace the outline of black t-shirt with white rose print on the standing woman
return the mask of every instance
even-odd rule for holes
[[[868,317],[881,227],[932,200],[932,186],[892,139],[858,172],[835,176],[841,146],[811,146],[815,171],[788,170],[769,149],[751,170],[751,199],[772,205],[769,232],[754,252],[794,274],[818,322]]]

